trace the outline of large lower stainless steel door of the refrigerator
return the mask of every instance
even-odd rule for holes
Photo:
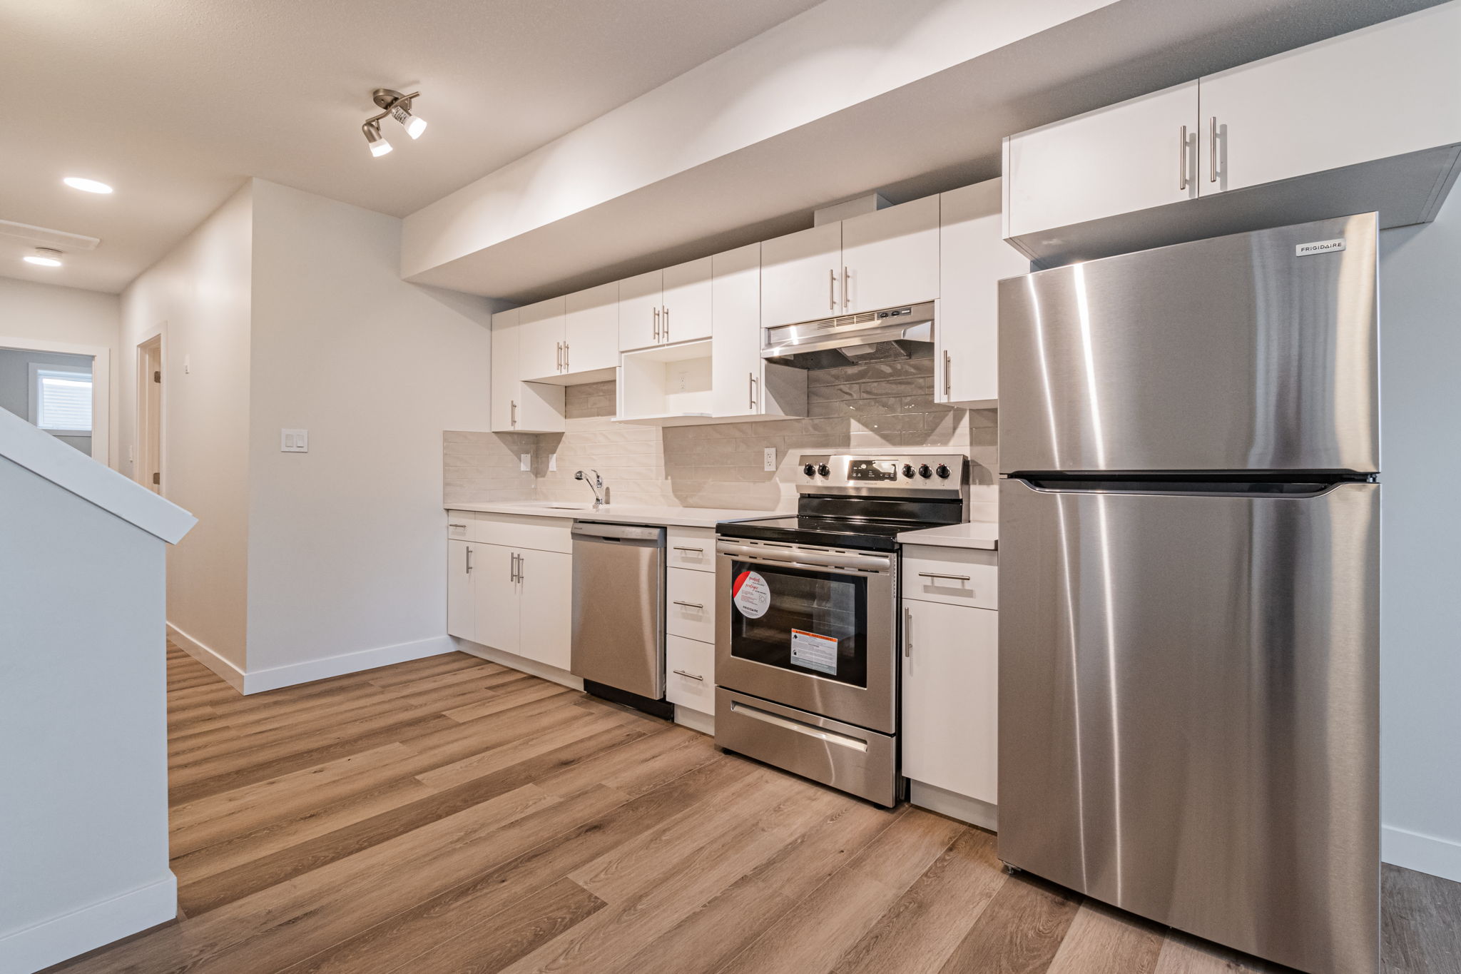
[[[999,857],[1373,974],[1379,485],[999,502]]]

